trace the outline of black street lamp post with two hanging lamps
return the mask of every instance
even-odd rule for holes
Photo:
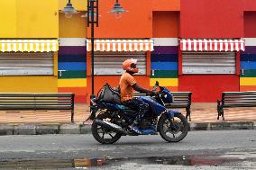
[[[62,10],[65,13],[67,18],[71,18],[72,14],[78,13],[75,8],[73,8],[70,0],[66,7]],[[119,4],[118,0],[115,0],[114,7],[109,13],[114,13],[116,18],[120,18],[122,13],[126,13],[121,4]],[[98,27],[98,0],[87,0],[87,27],[91,26],[91,73],[92,73],[92,95],[94,95],[95,88],[95,67],[94,67],[94,59],[95,59],[95,24]]]

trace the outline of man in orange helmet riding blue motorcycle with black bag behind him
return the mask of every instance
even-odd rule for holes
[[[151,90],[140,87],[133,77],[139,70],[136,59],[123,62],[123,76],[115,93],[104,85],[97,96],[91,96],[90,116],[92,135],[102,144],[113,144],[122,136],[160,134],[168,142],[178,142],[187,136],[189,124],[181,112],[169,110],[166,103],[172,103],[170,91],[158,82]],[[157,93],[155,90],[159,88]],[[154,97],[133,97],[133,90]],[[116,95],[114,95],[116,94]],[[115,97],[115,98],[114,98]],[[120,98],[122,103],[120,103]],[[126,106],[126,107],[123,107]]]

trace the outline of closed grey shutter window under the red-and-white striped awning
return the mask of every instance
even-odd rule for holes
[[[235,74],[235,52],[182,51],[183,74]]]

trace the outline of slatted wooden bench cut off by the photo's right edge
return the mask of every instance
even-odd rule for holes
[[[232,107],[256,107],[256,91],[248,92],[223,92],[222,99],[217,100],[217,112],[224,121],[224,108]]]

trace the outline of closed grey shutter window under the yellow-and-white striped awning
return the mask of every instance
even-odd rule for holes
[[[0,52],[0,76],[53,75],[53,52]]]

